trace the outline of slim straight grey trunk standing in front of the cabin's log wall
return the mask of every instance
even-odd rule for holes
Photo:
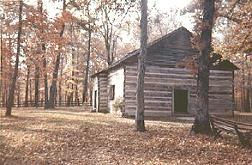
[[[144,125],[144,75],[145,75],[145,57],[147,55],[147,0],[141,0],[141,38],[140,54],[138,56],[137,72],[137,110],[135,116],[136,130],[145,131]]]

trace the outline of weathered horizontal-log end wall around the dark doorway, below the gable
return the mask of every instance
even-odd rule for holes
[[[136,65],[125,66],[125,113],[136,111]],[[145,74],[145,115],[168,116],[173,113],[173,90],[188,90],[188,111],[194,113],[197,80],[190,70],[147,66]],[[232,72],[211,71],[210,111],[232,110]]]

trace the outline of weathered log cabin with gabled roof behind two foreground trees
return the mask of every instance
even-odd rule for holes
[[[197,56],[192,33],[184,27],[148,44],[145,58],[145,116],[193,115],[196,109],[197,75],[181,67],[185,59]],[[118,111],[127,116],[136,112],[137,57],[140,50],[128,53],[107,69],[92,75],[92,109]],[[223,63],[223,62],[222,62]],[[234,70],[212,67],[209,78],[210,112],[232,112],[234,108]]]

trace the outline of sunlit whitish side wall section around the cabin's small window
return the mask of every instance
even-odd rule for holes
[[[108,110],[111,112],[113,110],[113,104],[117,99],[123,101],[124,96],[124,68],[117,68],[111,70],[108,74],[108,86],[107,89],[109,90],[110,85],[115,85],[114,90],[114,99],[110,100],[108,98]]]

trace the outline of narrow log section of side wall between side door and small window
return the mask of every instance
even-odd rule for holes
[[[107,73],[101,73],[98,76],[98,112],[108,111],[108,76]]]

